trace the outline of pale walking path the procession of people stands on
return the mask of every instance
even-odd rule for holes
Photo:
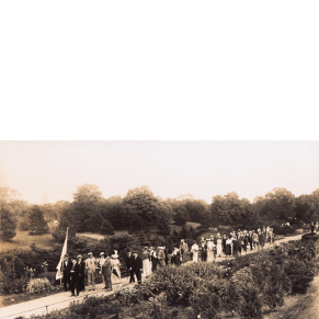
[[[293,236],[293,237],[286,237],[280,240],[275,241],[275,244],[278,244],[284,241],[289,240],[299,240],[301,238],[301,235]],[[253,252],[253,251],[252,251]],[[250,253],[250,252],[248,252]],[[217,258],[216,262],[223,261],[226,258]],[[189,261],[184,263],[183,265],[191,264],[192,261]],[[135,284],[128,284],[128,277],[124,277],[121,280],[122,285],[127,286],[135,286]],[[117,285],[114,285],[114,288],[116,288]],[[103,290],[103,284],[95,285],[94,292],[81,292],[79,297],[70,297],[70,292],[62,292],[58,293],[52,296],[42,297],[38,299],[24,301],[15,305],[11,305],[8,307],[0,308],[0,318],[2,319],[15,319],[19,316],[24,316],[25,318],[29,318],[31,315],[43,315],[47,314],[54,309],[65,309],[70,306],[71,301],[81,303],[83,300],[83,297],[86,296],[107,296],[112,295],[114,292],[105,292]]]

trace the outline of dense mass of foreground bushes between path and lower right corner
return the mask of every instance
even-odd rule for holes
[[[231,262],[166,266],[136,288],[37,318],[218,318],[223,311],[261,318],[263,306],[276,309],[286,294],[306,293],[316,254],[314,241],[290,241]]]

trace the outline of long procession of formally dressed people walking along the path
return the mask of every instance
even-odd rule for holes
[[[229,235],[217,233],[208,238],[202,237],[200,242],[189,248],[184,239],[175,244],[173,250],[166,247],[145,247],[141,255],[138,250],[132,250],[125,257],[125,266],[128,274],[129,283],[141,283],[141,277],[147,278],[158,267],[173,265],[180,266],[190,259],[193,262],[214,262],[221,257],[237,257],[247,253],[248,250],[261,250],[271,247],[274,243],[275,235],[270,227],[258,228],[254,230],[232,231]],[[95,289],[95,276],[102,275],[103,289],[112,290],[113,284],[121,283],[121,262],[117,251],[107,255],[101,252],[99,258],[94,258],[92,252],[83,261],[82,255],[69,258],[64,257],[61,272],[64,274],[64,288],[71,290],[71,296],[79,296],[80,292],[86,290],[86,277],[89,290]]]

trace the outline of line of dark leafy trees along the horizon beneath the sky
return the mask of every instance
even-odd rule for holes
[[[156,228],[159,235],[170,235],[172,220],[184,226],[187,221],[202,227],[225,225],[257,225],[270,221],[290,224],[310,223],[319,219],[319,189],[311,194],[295,196],[286,189],[277,187],[258,196],[251,203],[240,198],[236,192],[215,195],[212,203],[195,200],[192,195],[163,200],[148,186],[132,189],[125,196],[104,198],[98,185],[78,186],[73,201],[55,204],[32,205],[20,200],[15,190],[0,187],[2,239],[15,236],[18,221],[22,230],[45,233],[47,223],[59,223],[56,236],[65,236],[66,227],[76,232],[100,232],[113,235],[114,230],[149,232]]]

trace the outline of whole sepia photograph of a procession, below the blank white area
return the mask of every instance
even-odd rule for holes
[[[0,318],[319,319],[319,140],[0,140]]]

